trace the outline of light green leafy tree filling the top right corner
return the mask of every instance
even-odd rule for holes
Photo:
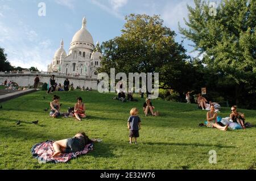
[[[209,69],[233,79],[238,104],[244,87],[256,86],[256,1],[223,0],[216,16],[205,1],[195,0],[195,8],[187,8],[188,29],[179,26],[180,32],[204,54],[203,63]]]

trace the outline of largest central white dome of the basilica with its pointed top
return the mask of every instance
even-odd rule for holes
[[[93,37],[90,35],[89,31],[86,30],[86,19],[82,19],[82,28],[75,33],[72,39],[72,43],[76,41],[83,41],[86,43],[93,44]],[[71,44],[72,44],[71,43]],[[94,45],[94,44],[93,44]]]

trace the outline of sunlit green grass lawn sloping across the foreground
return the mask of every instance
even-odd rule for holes
[[[48,112],[52,95],[46,91],[0,103],[0,169],[256,169],[256,128],[219,131],[199,127],[207,111],[196,104],[153,100],[160,117],[145,117],[144,100],[122,103],[113,94],[97,91],[55,92],[63,104],[61,112],[73,107],[82,96],[88,118],[52,119]],[[43,99],[46,96],[46,99]],[[139,108],[142,129],[138,145],[129,144],[127,119],[130,109]],[[246,121],[256,124],[256,111],[240,110]],[[230,108],[222,108],[227,117]],[[20,125],[16,121],[21,120]],[[38,125],[31,121],[39,120]],[[94,150],[68,163],[39,164],[30,149],[38,142],[60,140],[85,131],[103,141]],[[210,150],[217,152],[217,164],[210,164]]]

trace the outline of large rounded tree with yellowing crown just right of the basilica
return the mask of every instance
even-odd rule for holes
[[[159,73],[161,88],[180,87],[186,75],[183,71],[190,65],[186,50],[175,42],[175,32],[163,26],[158,15],[130,14],[125,20],[122,35],[102,43],[99,71],[109,73],[110,68],[115,68],[126,74]]]

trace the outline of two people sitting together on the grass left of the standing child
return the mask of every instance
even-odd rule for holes
[[[67,113],[60,113],[60,97],[57,95],[53,96],[53,101],[50,103],[51,111],[49,112],[49,116],[51,117],[76,117],[77,120],[81,121],[82,118],[86,117],[85,114],[85,104],[82,102],[82,98],[77,98],[77,103],[75,107],[69,108]]]

